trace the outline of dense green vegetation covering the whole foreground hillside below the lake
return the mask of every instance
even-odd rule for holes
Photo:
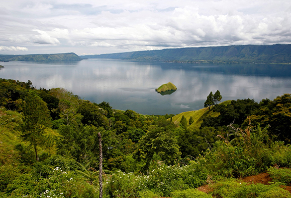
[[[3,198],[97,198],[98,132],[103,197],[291,198],[290,94],[141,115],[0,79],[0,106]],[[237,179],[266,171],[272,185]]]

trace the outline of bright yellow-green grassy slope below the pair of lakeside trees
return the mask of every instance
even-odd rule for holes
[[[230,100],[226,100],[224,102],[219,103],[218,105],[227,105],[230,102]],[[219,115],[219,113],[217,112],[212,112],[209,111],[209,107],[207,108],[202,108],[199,110],[195,110],[195,111],[186,111],[183,113],[179,113],[177,115],[175,115],[172,120],[176,125],[180,125],[180,121],[182,119],[182,116],[184,115],[184,117],[187,119],[187,121],[189,122],[190,117],[192,116],[194,119],[194,122],[192,123],[192,125],[189,127],[189,129],[194,130],[200,127],[201,123],[202,123],[202,117],[203,115],[205,116],[212,116],[212,117],[217,117]]]

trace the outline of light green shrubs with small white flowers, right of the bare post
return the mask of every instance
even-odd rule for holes
[[[105,192],[113,198],[170,196],[175,190],[196,188],[205,183],[207,174],[193,163],[188,166],[159,165],[147,175],[114,172],[105,185]]]

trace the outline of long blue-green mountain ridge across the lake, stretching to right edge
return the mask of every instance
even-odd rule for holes
[[[85,55],[81,57],[174,62],[291,63],[291,45],[276,44],[272,46],[244,45],[161,49]]]

